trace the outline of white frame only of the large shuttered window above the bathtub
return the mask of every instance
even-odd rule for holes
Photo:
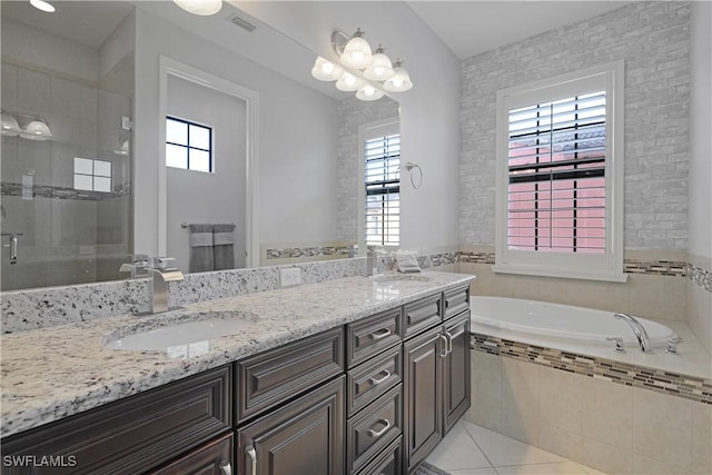
[[[625,281],[623,271],[623,61],[497,91],[495,273]],[[510,110],[606,91],[605,251],[603,254],[517,250],[508,247]]]

